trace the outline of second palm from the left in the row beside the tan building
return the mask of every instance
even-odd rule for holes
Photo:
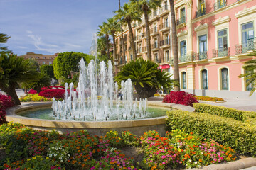
[[[117,59],[117,50],[116,50],[116,43],[115,43],[115,33],[120,30],[120,24],[117,22],[117,19],[115,18],[108,18],[107,19],[107,27],[110,30],[110,33],[113,38],[113,46],[114,46],[114,57],[113,57],[113,63],[114,60]]]

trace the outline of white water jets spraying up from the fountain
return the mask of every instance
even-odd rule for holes
[[[95,75],[94,60],[91,60],[86,67],[84,60],[81,59],[79,67],[80,76],[76,91],[73,83],[70,83],[70,86],[65,84],[64,100],[53,99],[53,115],[56,119],[102,121],[144,117],[146,100],[140,100],[139,103],[137,100],[133,101],[131,79],[122,81],[121,89],[118,91],[118,85],[113,81],[110,61],[107,65],[105,62],[100,62],[98,77]]]

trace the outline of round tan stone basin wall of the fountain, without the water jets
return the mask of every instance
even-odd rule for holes
[[[161,135],[165,134],[166,120],[165,116],[158,118],[146,118],[140,120],[114,120],[114,121],[61,121],[61,120],[43,120],[36,118],[26,118],[19,113],[31,111],[33,109],[50,108],[52,102],[48,103],[23,103],[21,106],[15,106],[7,109],[6,121],[21,123],[36,130],[57,130],[58,132],[75,132],[87,130],[91,135],[105,135],[110,130],[122,132],[129,130],[136,135],[143,135],[147,130],[158,130]],[[148,101],[148,106],[166,108],[176,108],[186,111],[193,111],[189,106],[181,106],[173,103],[162,103],[161,101]]]

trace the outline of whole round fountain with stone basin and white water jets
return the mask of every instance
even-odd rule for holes
[[[91,54],[95,55],[85,67],[84,60],[80,60],[80,77],[78,87],[74,84],[65,84],[65,98],[63,101],[52,103],[28,103],[16,106],[6,111],[6,121],[21,123],[38,130],[58,130],[58,132],[87,130],[92,135],[105,135],[110,130],[118,132],[129,130],[136,135],[142,135],[147,130],[158,130],[161,135],[165,133],[165,116],[151,118],[146,111],[147,106],[154,108],[178,108],[190,111],[188,106],[179,107],[171,103],[156,101],[134,100],[132,81],[122,81],[118,91],[117,83],[113,81],[111,62],[100,62],[97,69],[97,38],[94,35]],[[97,70],[99,70],[97,72]],[[98,76],[97,76],[98,75]],[[120,96],[118,94],[121,94]],[[46,111],[53,108],[50,113],[54,120],[40,118],[26,118],[23,112],[41,109]],[[187,108],[186,108],[187,107]],[[185,109],[184,109],[185,108]]]

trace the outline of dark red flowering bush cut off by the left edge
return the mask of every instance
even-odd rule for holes
[[[6,122],[6,108],[14,106],[11,97],[0,94],[0,124]]]

